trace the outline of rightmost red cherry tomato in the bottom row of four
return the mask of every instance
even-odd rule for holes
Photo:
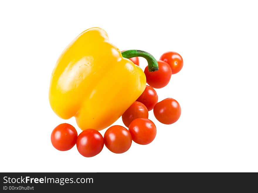
[[[131,122],[129,132],[135,143],[146,145],[152,142],[157,130],[155,124],[146,118],[138,118]]]

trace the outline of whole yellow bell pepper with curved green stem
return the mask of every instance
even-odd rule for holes
[[[136,56],[147,59],[150,71],[158,70],[157,61],[147,52],[121,53],[103,29],[82,32],[65,48],[52,72],[52,110],[63,119],[74,116],[82,130],[108,127],[145,89],[144,72],[126,59]]]

